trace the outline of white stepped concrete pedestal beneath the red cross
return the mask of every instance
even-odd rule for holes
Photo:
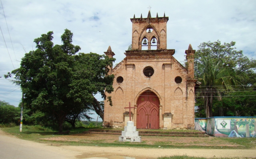
[[[141,142],[141,136],[139,136],[139,131],[136,131],[133,121],[127,121],[127,126],[125,126],[125,131],[122,131],[122,136],[119,136],[119,141]]]

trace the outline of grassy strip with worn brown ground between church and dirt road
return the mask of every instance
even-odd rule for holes
[[[40,126],[23,125],[1,128],[20,139],[32,140],[41,143],[58,145],[108,146],[108,147],[137,147],[137,148],[201,148],[201,149],[250,149],[256,147],[256,138],[215,138],[215,137],[165,137],[142,136],[141,143],[119,142],[118,135],[83,134],[92,128],[71,129],[69,134],[57,135]],[[98,129],[98,128],[97,128]],[[118,130],[118,129],[116,129]],[[156,130],[153,130],[156,131]],[[163,131],[163,130],[159,130]],[[166,131],[166,130],[165,130]],[[169,131],[195,131],[195,130],[169,130]]]

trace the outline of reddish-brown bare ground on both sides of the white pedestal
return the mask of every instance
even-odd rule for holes
[[[118,141],[117,135],[106,134],[73,134],[65,136],[56,136],[51,138],[43,138],[42,140],[63,140],[63,141],[76,141],[76,142],[95,142],[95,143],[113,143]],[[238,147],[241,146],[236,143],[231,143],[222,139],[214,137],[166,137],[166,136],[143,136],[142,141],[145,144],[156,145],[182,145],[182,146],[227,146]]]

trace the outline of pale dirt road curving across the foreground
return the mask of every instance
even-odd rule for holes
[[[7,143],[11,143],[12,147],[17,144],[18,148],[10,154],[12,158],[20,158],[19,149],[27,148],[26,153],[30,155],[30,158],[43,153],[43,157],[47,158],[70,158],[70,159],[85,159],[90,157],[106,157],[109,159],[125,159],[134,157],[136,159],[157,158],[160,156],[171,155],[188,155],[198,157],[256,157],[256,149],[241,150],[241,149],[162,149],[162,148],[122,148],[122,147],[98,147],[98,146],[61,146],[51,145],[45,143],[37,143],[27,140],[15,138],[14,136],[3,132],[0,129],[0,156],[1,153],[6,154],[5,150],[1,148],[7,148]],[[36,152],[35,152],[36,151]],[[52,154],[53,153],[53,154]],[[16,155],[16,156],[15,156]],[[56,157],[55,157],[56,156]],[[126,156],[126,157],[124,157]],[[25,158],[25,157],[24,157]],[[26,157],[28,158],[28,157]],[[35,157],[34,157],[35,158]],[[40,158],[40,157],[37,157]]]

